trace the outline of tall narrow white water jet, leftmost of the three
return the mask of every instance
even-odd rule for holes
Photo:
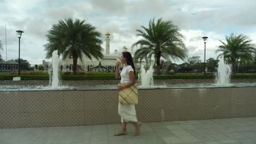
[[[61,81],[59,76],[59,55],[57,50],[53,52],[53,57],[51,62],[52,62],[51,68],[49,69],[49,79],[50,79],[49,85],[51,85],[51,88],[54,88],[54,89],[60,88]]]

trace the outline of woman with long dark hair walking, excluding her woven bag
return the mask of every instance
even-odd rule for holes
[[[121,73],[119,73],[120,63],[115,62],[115,79],[121,78],[121,83],[126,83],[124,86],[118,86],[118,91],[121,91],[125,87],[130,87],[136,83],[135,79],[135,67],[132,61],[132,56],[130,52],[123,52],[121,55],[121,63],[125,66],[123,67]],[[135,135],[139,135],[139,130],[141,128],[141,123],[138,122],[136,116],[135,105],[121,105],[118,104],[118,114],[121,117],[122,130],[115,133],[114,136],[126,135],[126,124],[131,122],[135,126]]]

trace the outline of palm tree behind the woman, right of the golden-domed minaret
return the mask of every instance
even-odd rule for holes
[[[160,58],[166,60],[182,59],[187,57],[187,48],[183,42],[184,36],[180,29],[172,21],[163,21],[161,18],[155,23],[155,19],[149,21],[148,28],[141,26],[142,30],[137,29],[137,36],[142,39],[132,45],[140,45],[135,52],[135,61],[141,61],[143,58],[148,61],[154,55],[156,66],[160,67]]]

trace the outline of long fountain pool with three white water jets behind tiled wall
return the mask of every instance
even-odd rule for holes
[[[44,85],[1,85],[0,91],[29,91],[29,90],[52,90],[52,89],[65,89],[65,90],[87,90],[87,89],[116,89],[117,86],[115,84],[109,84],[106,82],[106,84],[103,84],[102,82],[92,82],[94,84],[88,84],[88,82],[85,82],[84,85],[75,84],[72,83],[71,85],[61,86],[60,76],[59,76],[59,56],[57,55],[57,51],[53,52],[53,59],[52,64],[49,69],[49,86]],[[236,83],[230,83],[230,74],[231,69],[228,64],[224,62],[223,57],[219,59],[218,63],[218,72],[215,74],[215,83],[179,83],[178,81],[172,81],[172,80],[164,80],[162,82],[162,85],[160,85],[159,81],[156,81],[154,83],[153,80],[153,64],[150,65],[150,68],[146,70],[146,67],[144,65],[141,65],[141,72],[138,74],[138,82],[140,84],[139,88],[149,88],[149,89],[166,89],[166,88],[173,88],[173,89],[179,89],[179,88],[199,88],[200,95],[205,95],[205,92],[207,88],[212,87],[255,87],[256,82],[236,82]],[[186,81],[186,80],[184,80]],[[79,81],[78,83],[81,83],[82,81]],[[167,82],[167,83],[166,83]],[[8,82],[7,82],[8,83]],[[17,82],[18,83],[18,82]],[[31,81],[33,83],[33,81]],[[203,88],[203,89],[202,89]],[[176,95],[176,94],[175,94]]]

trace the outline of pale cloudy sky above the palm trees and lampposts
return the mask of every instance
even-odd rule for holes
[[[154,17],[162,17],[181,29],[189,57],[200,56],[203,60],[202,37],[207,36],[206,59],[216,58],[219,40],[230,33],[245,34],[256,43],[255,8],[254,0],[0,0],[0,40],[4,48],[0,52],[5,60],[5,25],[8,60],[18,58],[16,30],[20,29],[25,32],[21,37],[21,58],[40,64],[45,59],[45,34],[59,20],[85,20],[102,33],[103,40],[109,32],[111,53],[123,46],[130,48],[139,39],[136,29],[147,26]]]

